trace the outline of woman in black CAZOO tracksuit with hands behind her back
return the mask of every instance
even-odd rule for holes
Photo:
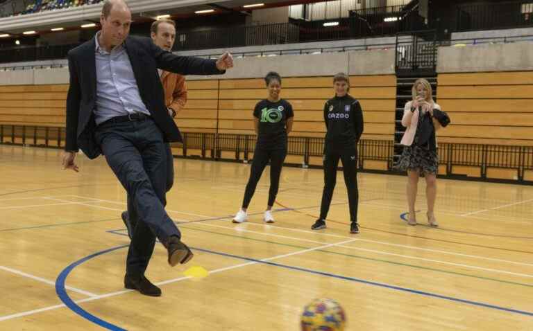
[[[324,190],[320,207],[320,217],[311,226],[313,230],[325,229],[325,219],[330,209],[331,198],[337,180],[339,159],[344,170],[344,182],[348,189],[350,205],[350,233],[359,233],[357,223],[357,142],[363,133],[363,111],[359,101],[348,95],[350,78],[345,73],[337,73],[333,78],[335,98],[325,102],[324,121],[327,132],[324,144]]]

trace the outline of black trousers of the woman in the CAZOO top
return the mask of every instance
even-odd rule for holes
[[[355,147],[326,148],[323,158],[324,190],[320,206],[321,220],[325,220],[330,210],[333,190],[337,182],[337,167],[340,159],[344,171],[344,183],[348,190],[350,221],[357,222],[357,205],[359,204],[359,190],[357,189],[357,150]]]

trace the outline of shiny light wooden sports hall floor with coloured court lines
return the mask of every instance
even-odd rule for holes
[[[530,186],[440,180],[430,229],[423,181],[412,227],[406,178],[362,173],[350,235],[341,172],[315,232],[321,170],[284,168],[273,225],[264,175],[251,222],[235,225],[249,165],[176,159],[167,210],[195,257],[171,268],[157,244],[151,298],[124,289],[123,188],[103,158],[78,163],[0,145],[0,330],[298,330],[321,297],[341,303],[347,330],[533,330]]]

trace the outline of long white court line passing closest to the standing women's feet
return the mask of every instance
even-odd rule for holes
[[[91,198],[91,197],[82,197],[82,196],[79,196],[79,195],[72,195],[72,196],[73,197],[78,197],[78,198],[81,198],[81,199],[94,199],[94,198]],[[124,203],[121,203],[121,202],[113,202],[111,200],[100,200],[100,199],[95,199],[95,200],[99,200],[99,201],[103,201],[103,202],[109,202],[111,204],[124,204]],[[384,205],[384,206],[387,207],[386,205]],[[399,208],[399,209],[403,210],[403,208]],[[193,216],[204,217],[204,218],[217,218],[217,217],[210,216],[210,215],[198,215],[198,214],[192,214],[192,213],[183,213],[183,212],[180,212],[180,211],[170,211],[170,212],[172,212],[172,213],[182,213],[182,214],[185,214],[185,215],[193,215]],[[231,217],[228,217],[228,220],[230,218]],[[256,223],[253,223],[253,222],[246,222],[245,224],[251,224],[253,226],[261,226],[261,227],[265,226],[264,224],[256,224]],[[308,230],[301,230],[301,229],[291,229],[291,228],[287,228],[287,227],[284,227],[284,226],[277,226],[277,225],[271,225],[271,224],[268,224],[267,226],[269,228],[284,229],[284,230],[295,231],[295,232],[300,232],[300,233],[309,233],[309,234],[312,234],[312,235],[324,235],[326,237],[332,237],[332,238],[342,238],[342,239],[349,239],[350,238],[350,237],[347,237],[346,235],[334,235],[332,233],[321,233],[321,232],[316,232],[316,231],[308,231]],[[294,238],[291,238],[291,239],[294,239]],[[377,241],[377,240],[366,240],[366,239],[357,238],[357,241],[359,241],[359,242],[373,242],[375,244],[384,244],[384,245],[393,246],[393,247],[403,247],[403,248],[407,248],[407,249],[415,249],[415,250],[418,250],[418,251],[430,251],[430,252],[434,252],[434,253],[443,253],[443,254],[448,254],[448,255],[451,255],[451,256],[462,256],[462,257],[465,257],[465,258],[477,258],[477,259],[480,259],[480,260],[488,260],[488,261],[494,261],[494,262],[505,262],[505,263],[509,263],[509,264],[512,264],[512,265],[533,266],[533,264],[530,264],[530,263],[516,262],[516,261],[510,261],[510,260],[501,260],[501,259],[497,259],[497,258],[487,258],[487,257],[484,257],[484,256],[468,255],[468,254],[463,254],[463,253],[455,253],[455,252],[451,252],[451,251],[441,251],[441,250],[437,250],[437,249],[424,249],[424,248],[421,248],[421,247],[408,246],[408,245],[402,245],[402,244],[391,244],[389,242],[382,242],[382,241]]]

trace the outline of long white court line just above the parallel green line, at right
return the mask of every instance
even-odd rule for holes
[[[303,241],[303,242],[312,242],[314,244],[324,244],[324,242],[319,242],[319,241],[316,241],[316,240],[309,240],[309,239],[303,239],[303,238],[289,237],[289,236],[286,236],[286,235],[275,235],[273,233],[264,233],[264,232],[259,232],[259,231],[246,230],[246,229],[242,229],[242,228],[237,228],[236,226],[235,227],[220,226],[220,225],[208,224],[208,223],[205,223],[205,222],[204,223],[199,223],[199,222],[198,223],[194,223],[194,225],[210,226],[210,227],[214,227],[214,228],[229,229],[229,230],[240,231],[240,232],[257,233],[257,234],[260,234],[260,235],[267,235],[267,236],[276,237],[276,238],[292,239],[292,240],[298,240],[298,241]],[[354,239],[354,241],[355,240],[357,240],[357,239]],[[441,260],[432,260],[432,259],[429,259],[429,258],[419,258],[417,256],[407,256],[407,255],[402,255],[402,254],[389,253],[387,251],[377,251],[375,249],[364,249],[364,248],[359,248],[359,247],[350,247],[350,246],[344,246],[344,245],[341,245],[341,244],[338,244],[337,247],[343,247],[343,248],[346,248],[346,249],[353,249],[355,251],[366,251],[366,252],[377,253],[377,254],[387,255],[387,256],[397,256],[399,258],[407,258],[407,259],[411,259],[411,260],[421,260],[421,261],[425,261],[425,262],[440,263],[441,265],[452,265],[454,267],[464,267],[464,268],[468,268],[468,269],[476,269],[476,270],[495,272],[495,273],[498,273],[498,274],[508,274],[508,275],[513,275],[513,276],[521,276],[521,277],[526,277],[526,278],[533,278],[533,275],[530,275],[530,274],[520,274],[520,273],[516,273],[516,272],[499,270],[499,269],[477,267],[475,265],[464,265],[464,264],[461,264],[461,263],[446,262],[446,261],[441,261]]]

